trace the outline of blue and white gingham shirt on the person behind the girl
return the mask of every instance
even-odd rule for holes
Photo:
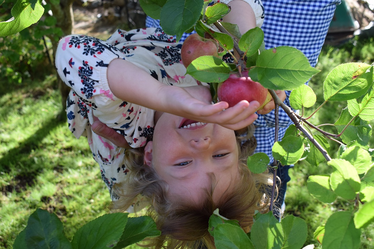
[[[262,0],[265,9],[264,31],[266,49],[278,46],[292,46],[301,50],[315,67],[322,45],[341,0]],[[159,20],[147,17],[146,27],[160,27]],[[190,33],[192,34],[192,33]],[[183,34],[181,42],[189,34]],[[284,101],[289,106],[289,93]],[[257,152],[264,152],[273,162],[272,147],[275,135],[274,110],[265,115],[258,115],[256,126]],[[279,108],[279,133],[281,140],[288,126],[292,124],[287,114]]]

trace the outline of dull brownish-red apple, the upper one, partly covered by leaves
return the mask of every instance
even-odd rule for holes
[[[218,44],[215,40],[206,39],[198,34],[191,34],[184,40],[181,57],[183,65],[187,68],[191,62],[203,55],[213,55],[218,58]]]

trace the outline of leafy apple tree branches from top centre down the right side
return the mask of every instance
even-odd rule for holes
[[[369,122],[374,119],[373,64],[337,65],[324,81],[325,102],[306,117],[305,110],[314,107],[316,95],[305,82],[319,70],[310,66],[300,50],[289,46],[265,50],[264,34],[260,28],[240,35],[236,25],[221,21],[230,11],[230,7],[224,3],[212,6],[208,6],[204,0],[141,0],[140,3],[145,13],[160,19],[165,33],[175,35],[177,40],[184,32],[195,30],[200,37],[219,44],[220,56],[226,53],[233,55],[232,51],[239,54],[237,58],[233,56],[233,63],[226,63],[216,55],[200,56],[187,66],[187,74],[211,83],[212,96],[216,101],[218,84],[225,82],[230,74],[240,74],[243,70],[248,71],[252,80],[269,89],[276,110],[282,108],[294,122],[281,141],[275,138],[275,162],[271,167],[301,160],[318,166],[327,161],[332,173],[310,176],[307,189],[324,203],[343,198],[351,203],[352,211],[332,214],[315,231],[315,237],[325,249],[343,248],[346,245],[359,248],[361,228],[374,221],[374,150],[368,146],[372,135]],[[173,22],[169,22],[171,19]],[[292,90],[289,99],[291,107],[300,112],[283,104],[275,90]],[[325,132],[324,124],[310,121],[328,101],[347,101],[347,106],[340,110],[340,117],[333,124],[336,133]],[[335,158],[330,155],[327,139],[339,144]],[[263,162],[269,162],[266,157],[264,153],[249,157],[249,169],[256,173],[264,172],[267,165]],[[306,239],[306,223],[290,215],[278,222],[271,212],[257,214],[249,236],[235,222],[225,219],[215,212],[209,222],[217,248],[224,245],[237,248],[301,248]]]

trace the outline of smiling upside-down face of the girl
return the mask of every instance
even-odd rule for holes
[[[239,174],[238,148],[233,130],[207,123],[181,129],[186,119],[163,113],[154,127],[153,141],[145,147],[145,163],[169,185],[172,195],[199,202],[202,188],[210,189],[208,173],[217,180],[218,200]]]

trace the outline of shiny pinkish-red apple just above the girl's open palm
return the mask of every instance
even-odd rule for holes
[[[265,87],[248,77],[248,71],[243,71],[242,77],[239,74],[231,74],[227,80],[218,84],[217,96],[219,101],[229,103],[229,107],[242,100],[257,100],[260,103],[259,109],[272,99]]]

